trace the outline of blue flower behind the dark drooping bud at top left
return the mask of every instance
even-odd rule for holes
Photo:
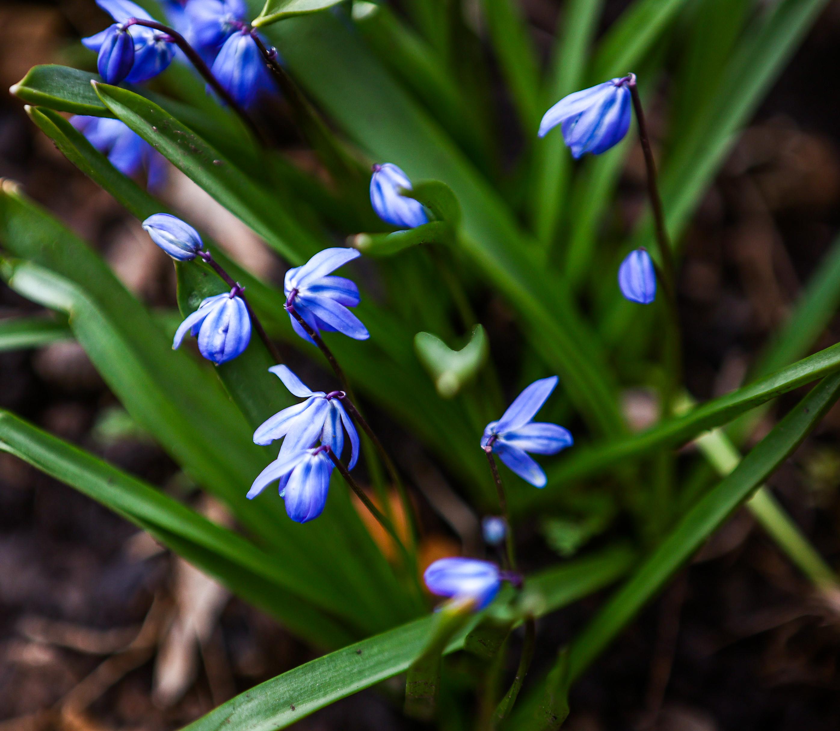
[[[115,23],[101,33],[81,39],[81,42],[87,48],[99,54],[98,65],[101,74],[102,55],[103,52],[108,53],[106,42],[108,39],[113,39],[114,30],[121,29],[121,26],[128,23],[131,18],[142,20],[152,20],[153,18],[139,5],[129,2],[129,0],[97,0],[97,5],[108,13]],[[153,28],[145,28],[142,25],[132,25],[125,32],[134,40],[134,65],[128,75],[124,77],[126,81],[132,84],[148,81],[171,64],[175,50],[165,33]],[[102,78],[105,78],[105,76],[102,76]],[[108,79],[105,80],[108,81]]]

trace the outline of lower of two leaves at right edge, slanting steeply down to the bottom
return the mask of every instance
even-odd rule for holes
[[[572,641],[568,660],[570,682],[580,678],[638,611],[690,560],[703,541],[790,457],[838,397],[840,375],[834,374],[817,384],[727,478],[677,521],[674,529]],[[545,692],[543,681],[517,710],[511,728],[524,731],[551,728],[545,725],[545,718],[535,713]]]

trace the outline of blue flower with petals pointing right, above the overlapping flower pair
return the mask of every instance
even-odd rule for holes
[[[359,288],[344,277],[327,276],[360,255],[354,248],[325,248],[303,266],[289,269],[284,283],[286,307],[294,307],[315,332],[343,332],[354,340],[367,340],[367,328],[347,309],[359,304]],[[295,332],[312,342],[294,316],[289,316]]]

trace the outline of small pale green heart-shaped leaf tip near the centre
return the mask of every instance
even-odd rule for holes
[[[466,384],[475,379],[490,355],[490,344],[484,328],[476,325],[468,342],[460,350],[451,350],[431,332],[414,336],[417,358],[428,370],[441,398],[452,399]]]

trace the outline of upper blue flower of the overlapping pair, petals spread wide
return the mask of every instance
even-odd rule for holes
[[[280,456],[285,457],[315,446],[316,442],[320,441],[322,445],[329,446],[334,455],[341,457],[344,449],[344,426],[350,437],[351,447],[348,469],[353,469],[359,459],[359,434],[339,400],[344,394],[340,391],[331,394],[312,391],[285,365],[274,366],[269,370],[281,379],[292,394],[306,400],[289,406],[266,420],[254,432],[255,444],[265,446],[285,436],[280,450]]]

